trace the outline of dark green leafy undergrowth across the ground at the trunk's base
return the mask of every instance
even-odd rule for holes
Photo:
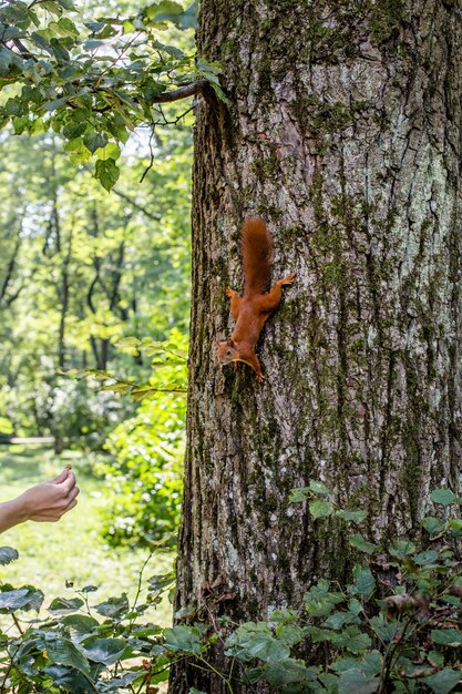
[[[350,545],[363,560],[351,580],[340,586],[321,579],[302,605],[275,611],[266,622],[236,625],[224,616],[162,629],[150,621],[150,611],[172,590],[174,575],[150,579],[141,601],[143,570],[132,603],[122,594],[91,605],[96,589],[89,585],[53,600],[44,620],[19,616],[40,609],[41,591],[2,584],[0,614],[11,619],[16,633],[6,626],[0,632],[0,694],[155,692],[172,663],[185,659],[220,677],[229,694],[257,683],[275,694],[460,692],[462,499],[449,489],[433,491],[431,499],[444,519],[423,519],[423,549],[408,540],[383,549],[352,533]],[[318,518],[365,519],[362,511],[339,509],[320,482],[292,491],[291,502],[305,500]],[[2,564],[17,557],[0,549]],[[220,672],[208,656],[217,641],[228,659]],[[189,694],[211,693],[193,687]]]

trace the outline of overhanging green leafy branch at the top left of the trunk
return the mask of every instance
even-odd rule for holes
[[[17,134],[60,133],[75,164],[95,160],[95,176],[110,191],[130,134],[167,122],[156,103],[206,82],[224,98],[218,65],[164,42],[172,23],[194,25],[195,4],[161,0],[125,19],[82,21],[72,0],[2,0],[0,124],[11,122]]]

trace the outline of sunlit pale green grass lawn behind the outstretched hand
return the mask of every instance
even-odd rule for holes
[[[27,522],[4,532],[0,544],[16,548],[19,560],[0,567],[0,580],[14,588],[40,588],[47,603],[57,596],[73,596],[72,589],[65,588],[66,581],[73,581],[75,588],[99,586],[91,593],[94,604],[122,592],[133,596],[147,552],[114,550],[105,544],[99,532],[101,512],[111,504],[112,497],[104,480],[91,474],[83,453],[64,451],[57,457],[38,446],[0,447],[0,501],[57,476],[66,463],[72,465],[81,489],[76,508],[58,523]],[[171,554],[153,557],[144,575],[165,573],[172,562]],[[171,605],[164,601],[157,609],[156,622],[168,624],[171,614]]]

